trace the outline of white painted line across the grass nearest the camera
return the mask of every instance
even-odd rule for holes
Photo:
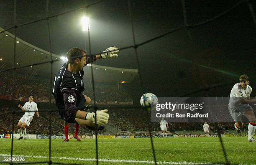
[[[10,156],[7,154],[0,154],[0,156]],[[49,158],[47,156],[30,156],[30,155],[13,155],[16,157],[32,157],[32,158]],[[75,158],[75,157],[51,157],[51,159],[60,159],[60,160],[79,160],[79,161],[96,161],[95,158]],[[121,162],[121,163],[146,163],[146,164],[155,164],[154,161],[148,160],[118,160],[118,159],[98,159],[100,162]],[[157,162],[157,164],[169,164],[169,165],[205,165],[212,164],[210,162]]]

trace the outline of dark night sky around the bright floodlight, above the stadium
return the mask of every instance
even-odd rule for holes
[[[93,2],[49,0],[49,16]],[[187,23],[192,25],[215,17],[238,2],[186,0]],[[255,13],[255,1],[249,2]],[[0,0],[0,4],[0,27],[6,29],[14,24],[14,3]],[[64,55],[72,47],[88,50],[87,33],[80,25],[85,11],[81,9],[49,20],[53,53]],[[110,46],[123,48],[133,45],[127,1],[105,0],[88,8],[87,13],[92,53],[100,53]],[[181,0],[131,0],[131,14],[137,44],[184,25]],[[18,25],[45,17],[45,0],[17,1]],[[13,33],[13,30],[9,32]],[[17,36],[49,51],[46,20],[18,27]],[[228,86],[189,95],[227,97],[241,74],[254,77],[250,85],[254,90],[256,88],[256,27],[247,2],[210,23],[176,31],[138,47],[137,51],[146,93],[159,97],[182,96],[197,89],[230,82]],[[133,48],[121,51],[116,59],[98,60],[95,64],[138,68]],[[125,88],[133,97],[142,95],[138,76]]]

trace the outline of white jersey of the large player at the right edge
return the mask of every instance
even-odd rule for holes
[[[235,102],[241,99],[247,99],[247,97],[250,97],[252,88],[251,86],[247,85],[246,89],[243,89],[241,87],[240,83],[236,83],[231,92],[230,92],[230,98],[229,103],[230,105],[234,105]],[[238,106],[241,106],[242,104],[238,104]]]

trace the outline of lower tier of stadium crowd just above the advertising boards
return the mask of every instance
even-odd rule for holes
[[[11,133],[12,132],[12,122],[14,122],[14,133],[18,133],[16,125],[22,117],[23,113],[18,107],[14,107],[15,114],[13,120],[12,104],[10,101],[0,100],[0,114],[2,115],[0,119],[0,134]],[[18,103],[17,103],[18,104]],[[28,134],[37,135],[49,135],[49,121],[51,117],[51,135],[64,135],[64,121],[59,117],[59,112],[56,107],[51,105],[51,113],[49,111],[49,104],[38,103],[38,112],[40,118],[37,119],[33,117],[31,125],[28,127]],[[93,111],[90,109],[89,111]],[[147,132],[147,112],[143,109],[111,109],[109,108],[110,120],[106,125],[106,128],[99,132],[101,135],[121,135],[122,132],[131,132],[133,135],[141,134],[140,132]],[[4,118],[3,118],[4,116]],[[159,121],[160,122],[160,121]],[[169,131],[172,134],[177,132],[189,131],[202,131],[203,123],[169,123]],[[210,123],[210,131],[214,134],[221,131],[227,132],[228,130],[233,130],[233,123]],[[153,132],[160,132],[159,123],[150,123],[151,130]],[[246,129],[246,128],[244,128]],[[74,124],[70,124],[69,134],[74,134]],[[85,127],[80,127],[79,135],[94,135],[95,132]]]

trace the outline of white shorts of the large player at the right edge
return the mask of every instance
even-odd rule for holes
[[[228,111],[235,122],[241,122],[242,115],[249,109],[253,110],[252,107],[248,104],[242,104],[238,107],[228,104]]]

